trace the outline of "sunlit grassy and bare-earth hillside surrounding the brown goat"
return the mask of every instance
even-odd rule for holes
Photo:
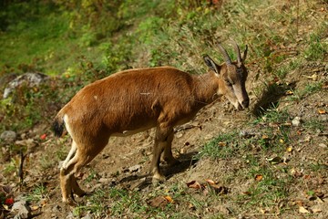
[[[49,78],[0,100],[0,218],[26,200],[33,218],[327,218],[328,4],[288,1],[3,1],[0,90],[26,72]],[[175,129],[167,181],[148,174],[154,130],[111,138],[78,175],[90,192],[61,202],[71,140],[51,124],[77,90],[128,68],[208,70],[231,38],[249,53],[251,104],[210,104]],[[25,159],[23,159],[25,158]]]

